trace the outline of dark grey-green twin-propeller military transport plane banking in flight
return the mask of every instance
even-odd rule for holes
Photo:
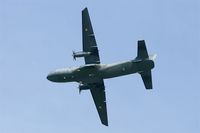
[[[79,92],[90,90],[102,124],[108,126],[104,79],[139,73],[146,89],[152,89],[151,69],[155,55],[149,56],[144,40],[138,41],[137,57],[133,60],[100,64],[99,52],[87,8],[82,11],[83,51],[73,52],[73,58],[84,57],[85,65],[57,69],[48,74],[53,82],[78,82]]]

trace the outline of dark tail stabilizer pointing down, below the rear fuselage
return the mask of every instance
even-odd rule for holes
[[[142,80],[144,82],[146,89],[152,89],[152,76],[151,76],[151,70],[150,71],[144,71],[140,73]]]

